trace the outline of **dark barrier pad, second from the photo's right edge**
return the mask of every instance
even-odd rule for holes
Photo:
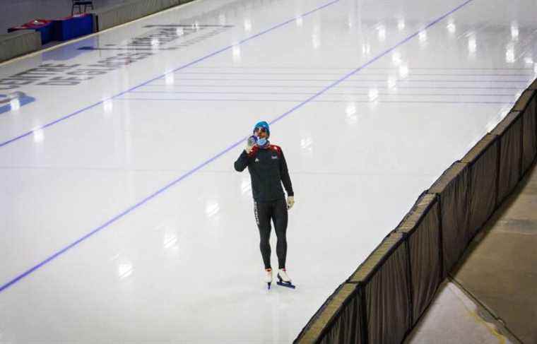
[[[500,203],[517,186],[522,176],[522,116],[512,111],[500,121],[491,135],[498,141],[498,191],[496,203]]]

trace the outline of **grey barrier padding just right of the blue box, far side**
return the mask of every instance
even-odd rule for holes
[[[93,30],[99,32],[113,28],[189,1],[191,0],[128,0],[98,8],[90,11],[93,15]]]

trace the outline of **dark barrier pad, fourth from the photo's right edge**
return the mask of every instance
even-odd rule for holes
[[[468,231],[468,164],[454,162],[428,192],[439,202],[442,230],[442,279],[461,258],[471,239]]]

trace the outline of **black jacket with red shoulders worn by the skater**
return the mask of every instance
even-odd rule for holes
[[[242,172],[246,167],[252,178],[252,194],[255,201],[269,202],[285,198],[282,183],[288,196],[294,196],[287,163],[280,147],[254,146],[249,154],[242,150],[240,157],[235,161],[235,170]]]

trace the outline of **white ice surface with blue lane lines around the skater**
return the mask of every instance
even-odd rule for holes
[[[0,65],[0,343],[292,342],[536,78],[536,16],[196,0]],[[266,290],[233,169],[259,120],[296,290]]]

